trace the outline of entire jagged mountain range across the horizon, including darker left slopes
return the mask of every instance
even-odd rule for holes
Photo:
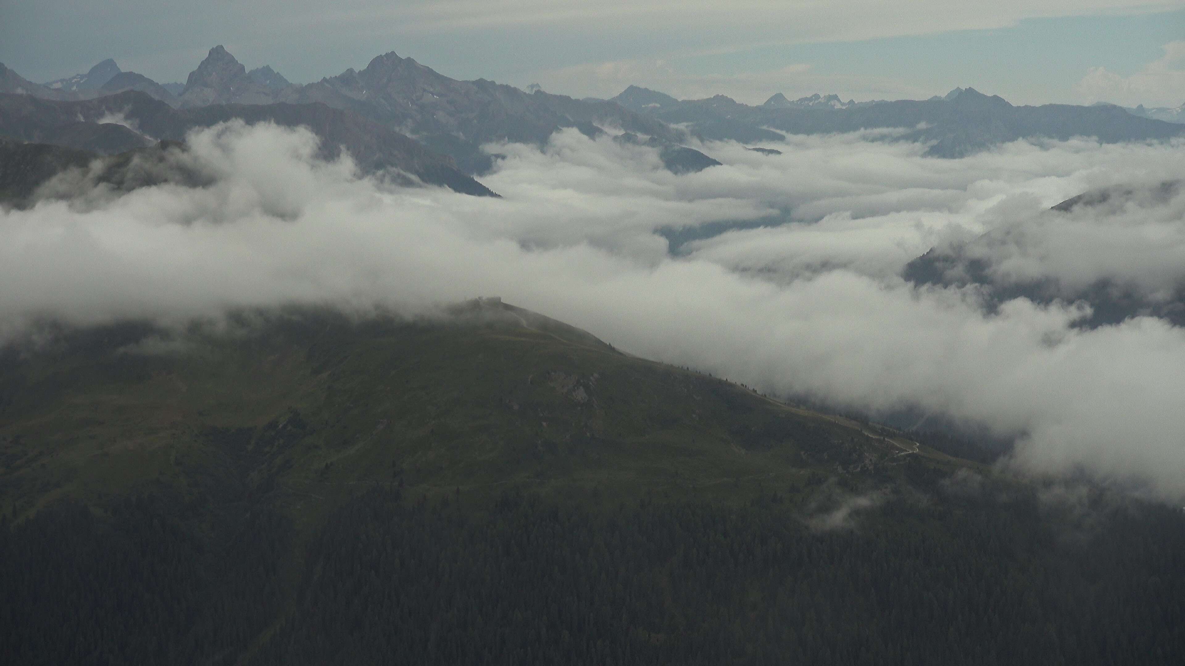
[[[184,85],[121,71],[114,60],[45,85],[0,64],[0,94],[25,98],[0,102],[0,135],[19,141],[111,154],[153,140],[180,140],[187,129],[218,119],[271,120],[312,127],[327,145],[346,146],[364,169],[397,169],[469,193],[488,193],[473,180],[494,165],[497,148],[491,153],[487,146],[543,146],[562,128],[589,136],[608,132],[619,141],[655,147],[675,173],[720,164],[687,146],[691,139],[760,143],[787,134],[890,129],[895,140],[925,143],[927,155],[959,158],[1020,139],[1121,142],[1185,135],[1185,124],[1158,120],[1178,117],[1179,109],[1014,107],[973,88],[924,101],[844,102],[838,95],[792,101],[776,94],[754,107],[723,95],[680,101],[630,85],[611,100],[575,100],[538,85],[526,92],[487,79],[453,79],[393,52],[360,71],[301,85],[268,65],[248,71],[220,45]],[[137,129],[101,122],[120,114]]]

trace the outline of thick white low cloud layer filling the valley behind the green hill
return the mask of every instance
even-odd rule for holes
[[[790,137],[775,156],[702,146],[724,166],[673,175],[648,148],[563,132],[543,152],[491,147],[504,158],[485,182],[500,200],[358,179],[347,160],[318,162],[303,132],[231,124],[191,145],[185,159],[214,185],[0,213],[0,337],[44,318],[500,295],[767,392],[1017,435],[1027,469],[1185,493],[1185,331],[1153,318],[1084,329],[1075,321],[1089,303],[992,310],[976,287],[899,276],[930,246],[1014,226],[1032,250],[1025,270],[1127,270],[1155,288],[1183,245],[1180,196],[1114,214],[1046,209],[1185,173],[1180,145],[1016,143],[937,160],[861,135]],[[660,235],[722,220],[766,226],[700,238],[678,257]],[[1066,236],[1077,238],[1069,263],[1052,251]]]

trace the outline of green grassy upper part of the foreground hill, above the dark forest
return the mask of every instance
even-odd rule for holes
[[[498,301],[424,320],[306,308],[231,324],[122,324],[7,350],[0,511],[167,488],[315,521],[374,486],[729,501],[967,465],[903,455],[897,433],[630,357]]]

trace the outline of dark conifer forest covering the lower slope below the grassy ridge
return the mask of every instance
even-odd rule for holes
[[[937,499],[821,531],[777,493],[474,511],[374,489],[301,544],[267,510],[206,531],[161,497],[64,504],[2,531],[0,643],[30,665],[1179,664],[1178,511]]]

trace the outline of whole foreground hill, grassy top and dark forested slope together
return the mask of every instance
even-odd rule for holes
[[[1185,517],[498,301],[0,358],[9,664],[1171,664]]]

